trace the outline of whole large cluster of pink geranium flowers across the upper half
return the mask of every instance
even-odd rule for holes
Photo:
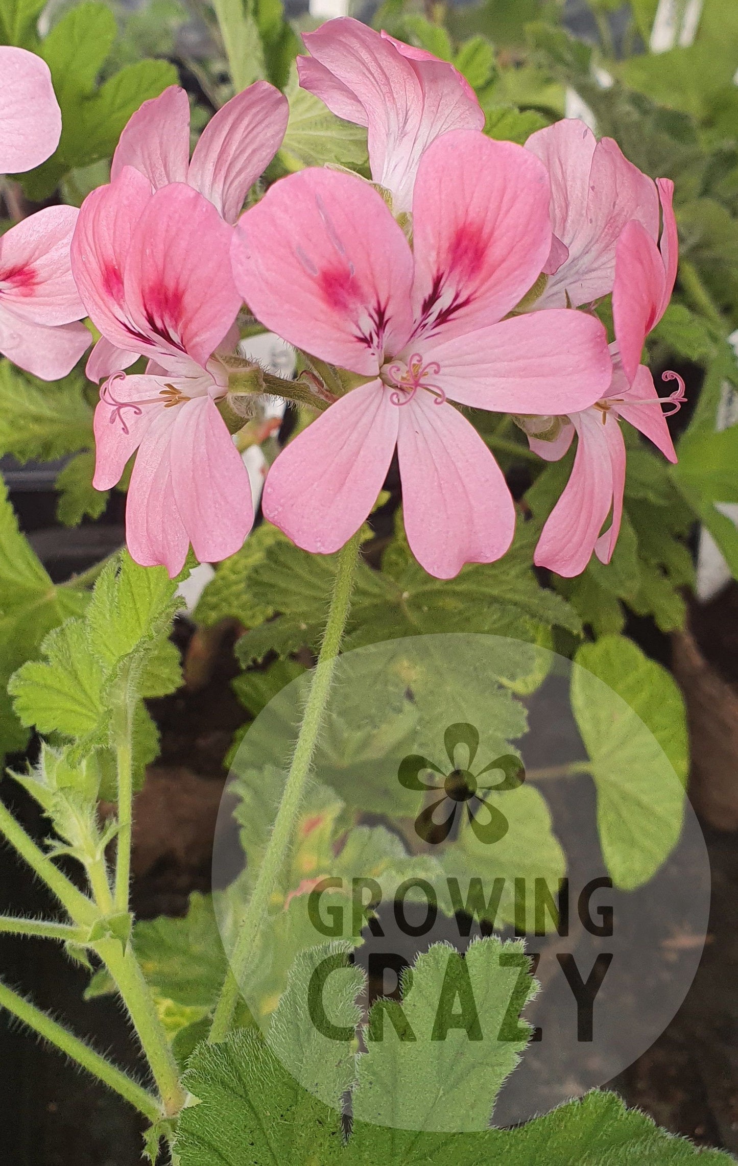
[[[281,146],[286,99],[252,85],[190,159],[189,103],[171,87],[131,119],[111,183],[76,226],[76,211],[54,208],[3,237],[0,347],[61,375],[86,346],[71,321],[90,316],[101,335],[87,363],[103,381],[94,484],[114,484],[138,450],[128,546],[173,575],[190,543],[201,560],[223,559],[253,521],[218,408],[243,303],[316,370],[321,412],[276,458],[262,499],[300,547],[343,546],[396,454],[408,542],[427,571],[450,578],[504,555],[515,508],[469,407],[512,414],[549,461],[576,433],[535,562],[567,576],[592,552],[607,562],[625,477],[618,419],[675,458],[662,405],[679,408],[683,386],[660,398],[640,364],[676,275],[672,183],[654,183],[579,121],[525,147],[487,138],[451,64],[354,20],[304,40],[301,85],[366,126],[372,181],[305,169],[240,215]],[[612,344],[593,311],[607,295]],[[7,338],[6,314],[23,321]],[[36,343],[34,328],[54,338]],[[146,372],[127,375],[141,356]],[[323,363],[343,370],[330,389]]]

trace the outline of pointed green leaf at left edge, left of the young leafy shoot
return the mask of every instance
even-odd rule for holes
[[[10,675],[38,653],[51,628],[82,616],[85,591],[55,586],[17,529],[0,482],[0,754],[22,750],[28,740],[7,695]]]

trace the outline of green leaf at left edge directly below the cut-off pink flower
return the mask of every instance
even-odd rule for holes
[[[0,360],[0,456],[51,462],[91,449],[92,414],[82,377],[42,381]]]

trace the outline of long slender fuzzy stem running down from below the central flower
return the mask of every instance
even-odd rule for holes
[[[274,829],[259,870],[256,885],[244,913],[236,947],[231,955],[229,972],[213,1016],[209,1038],[213,1042],[225,1040],[229,1034],[233,1011],[240,992],[239,984],[248,970],[248,961],[253,956],[269,899],[276,886],[280,870],[291,842],[295,821],[310,775],[312,757],[325,714],[336,659],[349,618],[359,541],[360,532],[357,532],[338,555],[333,595],[318,662],[312,673],[310,693],[297,735],[282,801],[274,821]]]

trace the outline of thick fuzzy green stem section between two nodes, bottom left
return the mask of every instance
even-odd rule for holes
[[[177,1062],[139,961],[131,948],[124,950],[115,939],[100,940],[94,944],[94,949],[115,981],[115,986],[128,1010],[161,1094],[164,1114],[168,1116],[178,1114],[184,1105],[185,1094],[180,1086]]]

